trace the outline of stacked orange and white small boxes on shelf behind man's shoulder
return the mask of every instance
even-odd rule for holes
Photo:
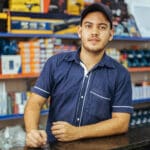
[[[19,42],[22,73],[39,73],[47,59],[54,54],[76,50],[74,45],[64,45],[61,39],[39,38]]]

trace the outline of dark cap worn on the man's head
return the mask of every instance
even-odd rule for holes
[[[110,27],[112,28],[112,12],[111,10],[108,8],[108,6],[102,4],[102,3],[93,3],[91,5],[89,5],[88,7],[86,7],[82,12],[81,12],[81,20],[80,20],[80,24],[82,24],[83,19],[85,18],[85,16],[88,13],[91,12],[102,12],[106,18],[108,19],[108,21],[110,22]]]

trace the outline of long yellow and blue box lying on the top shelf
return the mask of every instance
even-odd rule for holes
[[[57,19],[38,19],[20,16],[10,16],[8,32],[19,34],[52,34],[53,25],[60,22],[63,21]]]

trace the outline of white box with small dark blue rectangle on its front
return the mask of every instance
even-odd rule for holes
[[[2,55],[1,56],[1,73],[2,74],[21,73],[21,56],[20,55]]]

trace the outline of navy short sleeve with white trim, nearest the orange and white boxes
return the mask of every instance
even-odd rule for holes
[[[54,82],[53,68],[54,61],[50,58],[45,63],[43,70],[35,83],[35,86],[31,89],[33,93],[36,93],[45,98],[48,98],[51,95],[52,86]]]

